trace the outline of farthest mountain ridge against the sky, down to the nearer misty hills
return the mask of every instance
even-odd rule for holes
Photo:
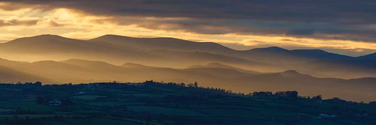
[[[219,62],[236,67],[238,68],[236,70],[241,72],[248,72],[247,70],[280,72],[294,69],[319,77],[340,78],[375,76],[375,73],[369,71],[374,69],[372,55],[374,54],[351,57],[320,49],[288,50],[276,46],[234,50],[214,42],[194,42],[166,37],[135,38],[120,35],[104,35],[91,40],[79,40],[45,34],[18,38],[0,44],[0,57],[12,60],[80,58],[104,60],[115,65],[133,62],[173,68]],[[322,60],[325,62],[314,64],[314,61]],[[357,62],[353,63],[353,60]],[[13,66],[17,65],[13,64]],[[326,72],[319,72],[322,70]]]

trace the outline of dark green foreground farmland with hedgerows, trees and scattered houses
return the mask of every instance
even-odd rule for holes
[[[302,97],[296,91],[234,93],[198,83],[115,82],[0,84],[0,124],[376,123],[374,101]]]

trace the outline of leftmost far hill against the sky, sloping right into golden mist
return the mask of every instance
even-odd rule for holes
[[[89,41],[66,38],[58,35],[38,35],[18,38],[0,44],[0,55],[12,59],[38,57],[49,60],[67,58],[101,59],[113,63],[124,62],[126,59],[152,60],[155,56],[143,50],[128,46],[119,46],[103,41]],[[4,55],[3,55],[4,54]],[[39,60],[42,60],[39,59]]]

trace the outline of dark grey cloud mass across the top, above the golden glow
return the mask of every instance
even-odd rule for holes
[[[14,1],[14,0],[12,0]],[[375,0],[19,0],[37,8],[72,8],[110,15],[119,24],[208,34],[252,33],[304,35],[376,41]],[[124,16],[189,19],[124,21]],[[160,26],[160,25],[164,26]],[[327,36],[330,35],[330,36]],[[333,36],[334,35],[334,36]],[[335,36],[337,35],[337,36]]]

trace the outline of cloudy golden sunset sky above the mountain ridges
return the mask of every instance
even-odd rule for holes
[[[117,34],[359,56],[376,52],[374,6],[374,0],[2,0],[0,42]]]

